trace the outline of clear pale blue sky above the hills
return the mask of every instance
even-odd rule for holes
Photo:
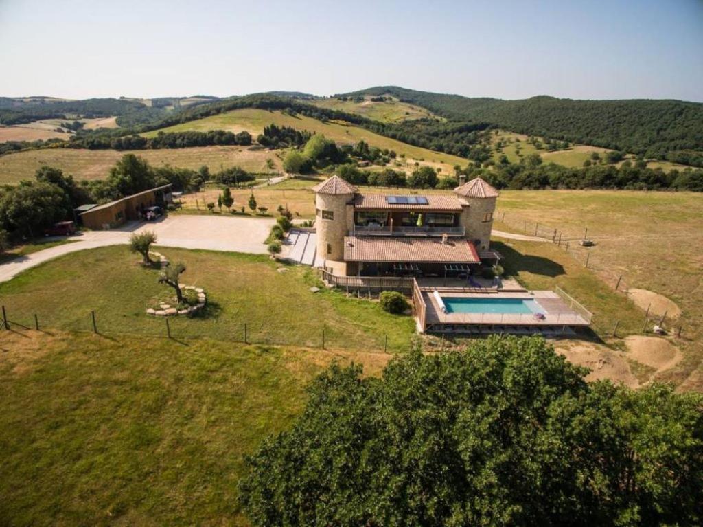
[[[0,0],[0,96],[703,101],[703,0]]]

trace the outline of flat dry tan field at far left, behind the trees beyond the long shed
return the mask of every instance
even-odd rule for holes
[[[122,155],[134,153],[150,164],[172,165],[198,169],[207,165],[211,172],[221,167],[235,165],[249,172],[266,172],[266,159],[273,159],[275,171],[283,170],[280,152],[252,150],[246,146],[202,146],[176,150],[82,150],[76,148],[51,148],[32,150],[0,156],[0,184],[13,184],[22,179],[34,179],[34,172],[41,165],[51,165],[72,174],[77,179],[103,179]]]

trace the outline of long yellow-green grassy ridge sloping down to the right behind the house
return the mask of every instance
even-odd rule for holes
[[[213,115],[212,117],[195,121],[183,122],[180,125],[162,128],[163,132],[182,132],[185,130],[198,130],[205,132],[212,129],[225,129],[232,132],[246,130],[257,136],[264,131],[264,127],[275,124],[278,126],[288,126],[317,134],[324,134],[328,139],[333,139],[339,143],[356,143],[362,139],[372,146],[378,148],[389,148],[396,153],[404,153],[408,158],[432,160],[449,165],[465,165],[466,160],[456,155],[449,155],[441,152],[433,152],[419,146],[411,146],[395,139],[389,139],[366,129],[353,125],[345,125],[339,122],[321,122],[316,119],[305,117],[304,115],[288,115],[280,111],[259,110],[256,108],[245,108],[233,110],[231,112]],[[144,134],[152,136],[159,132],[155,130]],[[449,170],[448,170],[449,171]]]

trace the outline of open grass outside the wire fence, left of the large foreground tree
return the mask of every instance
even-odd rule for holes
[[[243,457],[331,360],[383,354],[0,332],[3,525],[236,525]]]

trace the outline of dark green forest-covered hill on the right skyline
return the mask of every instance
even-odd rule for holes
[[[453,120],[489,122],[512,132],[703,165],[703,103],[631,99],[586,101],[536,96],[504,101],[396,86],[344,96],[391,95]]]

